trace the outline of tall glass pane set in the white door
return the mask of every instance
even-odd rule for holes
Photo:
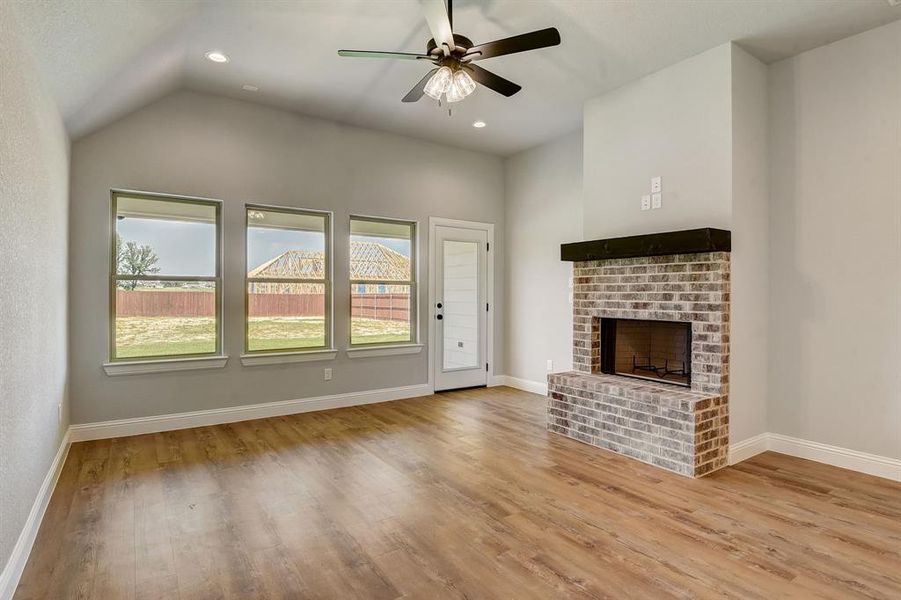
[[[444,241],[444,370],[479,361],[479,245]]]

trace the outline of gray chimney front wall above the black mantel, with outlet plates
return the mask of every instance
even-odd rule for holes
[[[731,225],[731,47],[585,103],[585,239]],[[641,211],[651,178],[663,207]]]

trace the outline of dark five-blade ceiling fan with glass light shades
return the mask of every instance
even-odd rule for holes
[[[370,52],[367,50],[338,50],[340,56],[353,58],[388,58],[424,60],[435,65],[419,83],[413,86],[403,102],[416,102],[427,95],[441,102],[458,102],[475,91],[476,82],[504,96],[512,96],[521,86],[473,64],[475,61],[515,54],[527,50],[547,48],[560,43],[560,32],[554,27],[515,35],[502,40],[474,45],[469,38],[453,32],[453,0],[420,0],[432,39],[425,54],[409,52]]]

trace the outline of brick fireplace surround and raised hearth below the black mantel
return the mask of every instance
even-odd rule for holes
[[[729,444],[729,253],[577,262],[573,368],[548,376],[548,429],[699,477]],[[691,389],[600,373],[600,319],[691,323]]]

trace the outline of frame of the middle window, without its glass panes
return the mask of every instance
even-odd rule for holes
[[[248,251],[250,250],[250,236],[248,235],[248,231],[250,230],[250,211],[251,210],[259,210],[263,212],[280,212],[285,214],[294,214],[294,215],[315,215],[325,217],[325,229],[323,233],[325,235],[325,244],[323,246],[325,250],[325,269],[323,274],[325,275],[324,279],[307,279],[307,278],[293,278],[293,277],[250,277],[249,273],[249,264],[247,262]],[[333,271],[333,227],[334,227],[334,213],[328,210],[316,210],[312,208],[298,208],[293,206],[274,206],[269,204],[245,204],[244,205],[244,355],[245,356],[262,356],[262,355],[271,355],[271,354],[279,354],[279,355],[288,355],[288,354],[303,354],[303,353],[320,353],[322,351],[329,351],[334,349],[334,271]],[[296,347],[296,348],[278,348],[278,349],[266,349],[266,350],[251,350],[249,348],[250,342],[250,284],[251,283],[314,283],[314,284],[322,284],[324,286],[325,292],[325,308],[324,308],[324,317],[325,317],[325,339],[322,346],[304,346],[304,347]]]

